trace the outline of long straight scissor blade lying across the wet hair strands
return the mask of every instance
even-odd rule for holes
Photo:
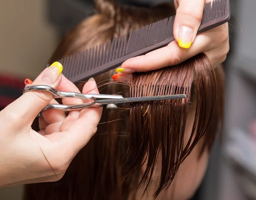
[[[170,100],[170,99],[182,99],[187,98],[186,94],[174,94],[174,95],[163,95],[163,96],[151,96],[151,97],[130,97],[123,99],[104,99],[96,100],[95,103],[100,103],[106,105],[109,103],[119,104],[119,103],[132,103],[132,102],[141,102],[141,101],[156,101],[156,100]]]

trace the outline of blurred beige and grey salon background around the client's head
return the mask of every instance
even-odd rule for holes
[[[120,0],[148,6],[166,0]],[[226,71],[225,130],[193,200],[256,199],[256,1],[230,0],[230,53]],[[93,0],[2,1],[0,6],[0,109],[34,80],[61,37],[93,14]],[[23,186],[0,189],[0,200],[21,200]]]

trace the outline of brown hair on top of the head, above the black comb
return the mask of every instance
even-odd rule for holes
[[[175,14],[174,6],[170,3],[154,8],[137,8],[116,6],[113,2],[95,0],[97,13],[81,21],[64,37],[50,63]]]

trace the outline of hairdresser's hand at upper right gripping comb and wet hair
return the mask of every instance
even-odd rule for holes
[[[200,52],[204,52],[217,67],[226,59],[229,51],[228,24],[196,35],[201,24],[204,4],[209,1],[211,0],[174,0],[177,10],[174,24],[175,41],[143,56],[126,60],[117,72],[124,75],[123,73],[173,66]]]

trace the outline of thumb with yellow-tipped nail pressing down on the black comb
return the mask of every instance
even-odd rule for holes
[[[205,0],[179,0],[173,34],[179,46],[189,49],[201,25]]]

